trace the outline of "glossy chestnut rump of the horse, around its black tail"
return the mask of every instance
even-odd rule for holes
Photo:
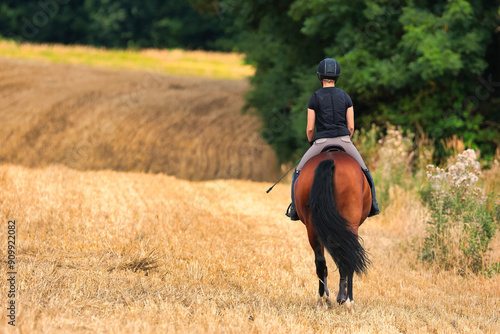
[[[305,207],[309,201],[314,173],[321,161],[334,161],[334,200],[337,208],[352,228],[357,228],[368,217],[371,205],[371,193],[368,181],[364,177],[359,163],[344,152],[324,152],[311,158],[300,171],[295,186],[297,207]],[[305,213],[302,213],[305,217]],[[299,216],[300,212],[299,212]]]

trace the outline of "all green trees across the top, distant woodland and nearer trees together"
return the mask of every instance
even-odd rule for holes
[[[0,34],[113,48],[238,50],[256,67],[246,108],[281,161],[307,148],[316,66],[342,68],[356,122],[386,122],[486,156],[500,146],[500,24],[495,0],[40,0],[0,4]]]

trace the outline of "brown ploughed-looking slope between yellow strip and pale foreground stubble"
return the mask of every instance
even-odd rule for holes
[[[244,80],[0,58],[0,162],[273,180]]]

